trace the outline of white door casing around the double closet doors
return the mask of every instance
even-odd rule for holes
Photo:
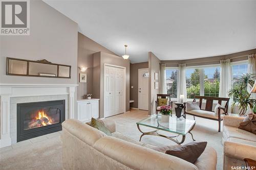
[[[108,63],[104,63],[104,68],[103,68],[103,90],[105,91],[105,66],[112,66],[112,67],[117,67],[117,68],[123,68],[124,69],[124,79],[123,79],[123,89],[124,89],[124,95],[123,95],[123,98],[124,98],[124,106],[123,106],[123,113],[125,113],[126,111],[126,67],[123,67],[123,66],[119,66],[119,65],[113,65],[113,64],[108,64]],[[130,85],[129,85],[129,88],[130,88]],[[103,110],[104,110],[104,113],[105,113],[105,96],[104,96],[104,92],[103,92],[103,99],[104,99],[104,103],[103,103]],[[130,103],[129,103],[130,105]],[[103,113],[103,114],[104,114]],[[120,113],[121,114],[121,113]],[[116,114],[115,114],[116,115]],[[112,115],[114,116],[114,115]],[[103,117],[105,117],[105,114],[103,115]]]

